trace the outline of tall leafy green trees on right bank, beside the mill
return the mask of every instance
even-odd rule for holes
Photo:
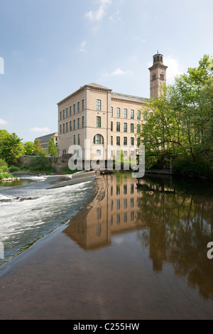
[[[213,60],[175,77],[174,85],[141,110],[137,134],[146,146],[146,168],[172,163],[173,173],[213,176]]]

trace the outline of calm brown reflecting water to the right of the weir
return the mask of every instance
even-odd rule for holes
[[[211,183],[97,178],[87,208],[13,259],[1,319],[213,319]]]

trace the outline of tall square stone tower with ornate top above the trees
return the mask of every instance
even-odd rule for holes
[[[163,65],[163,55],[153,55],[153,65],[150,70],[150,98],[155,99],[163,94],[163,86],[166,85],[166,70]]]

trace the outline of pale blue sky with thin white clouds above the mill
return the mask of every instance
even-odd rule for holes
[[[57,103],[90,82],[149,97],[157,50],[169,84],[213,55],[212,13],[212,0],[0,0],[0,129],[58,131]]]

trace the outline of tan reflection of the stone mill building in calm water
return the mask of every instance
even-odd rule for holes
[[[111,235],[143,226],[140,220],[141,191],[137,189],[136,178],[127,174],[100,176],[97,187],[96,198],[70,220],[64,231],[87,250],[106,247],[111,244]]]

